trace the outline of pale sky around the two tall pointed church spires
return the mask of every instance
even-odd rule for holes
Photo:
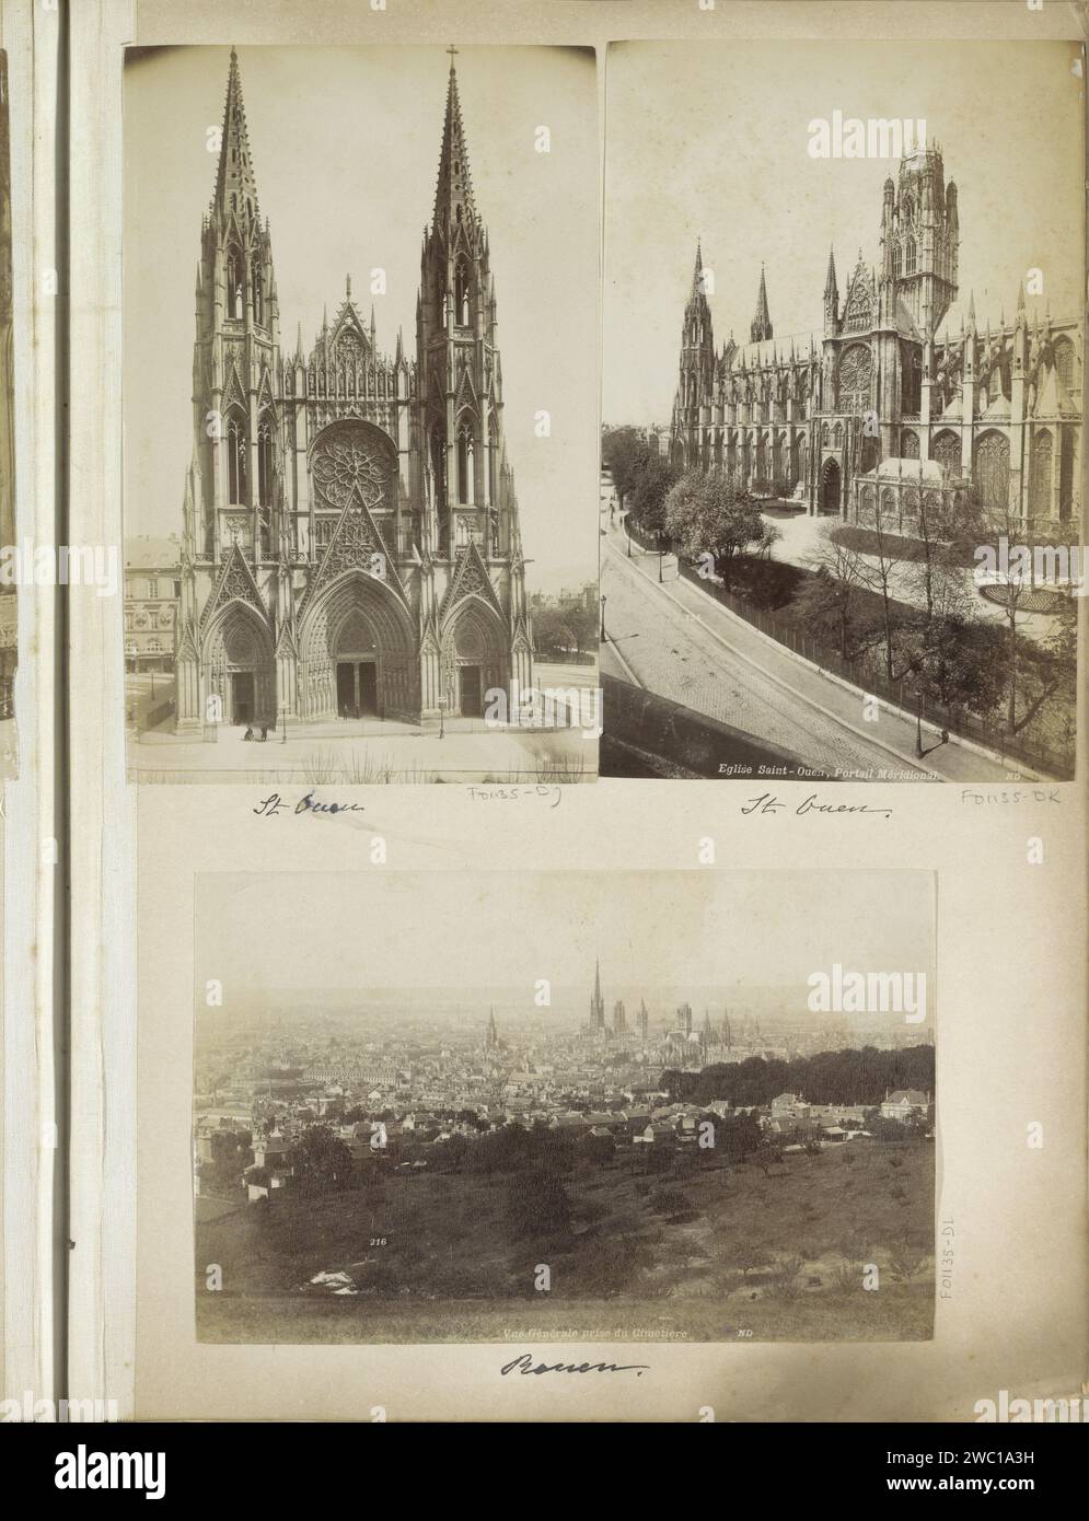
[[[125,71],[125,526],[181,531],[192,452],[193,281],[216,176],[227,47],[154,49]],[[490,233],[503,421],[529,590],[598,573],[598,140],[593,52],[467,47],[458,85],[476,205]],[[280,339],[309,354],[353,298],[392,354],[415,354],[450,59],[440,47],[243,47],[242,93],[269,218]],[[551,152],[534,149],[538,126]],[[538,409],[551,438],[535,437]]]

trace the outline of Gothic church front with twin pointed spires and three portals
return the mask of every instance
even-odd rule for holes
[[[415,353],[377,348],[345,281],[281,344],[231,53],[201,228],[193,455],[175,651],[179,732],[207,719],[479,716],[532,684],[488,234],[450,62]]]

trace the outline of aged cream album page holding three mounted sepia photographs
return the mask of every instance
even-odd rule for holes
[[[73,20],[73,1390],[1080,1408],[1080,18]]]

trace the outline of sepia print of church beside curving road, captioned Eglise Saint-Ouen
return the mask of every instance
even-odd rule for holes
[[[602,774],[1072,779],[1081,49],[622,43],[605,99]]]

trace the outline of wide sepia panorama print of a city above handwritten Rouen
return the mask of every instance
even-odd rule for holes
[[[934,913],[913,870],[198,876],[198,1340],[929,1338]]]

